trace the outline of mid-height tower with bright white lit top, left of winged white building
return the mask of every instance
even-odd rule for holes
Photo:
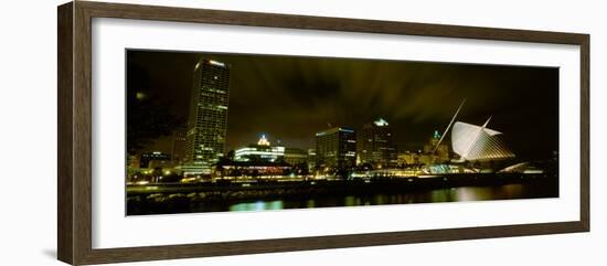
[[[358,155],[360,163],[371,163],[376,168],[390,168],[398,163],[396,147],[386,120],[380,118],[363,125],[359,132]]]

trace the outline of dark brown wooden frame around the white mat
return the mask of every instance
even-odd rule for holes
[[[589,231],[589,35],[75,1],[58,7],[57,257],[73,265],[291,252]],[[92,19],[179,21],[581,47],[579,221],[97,249],[92,247]]]

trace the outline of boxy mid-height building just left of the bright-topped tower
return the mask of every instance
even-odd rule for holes
[[[356,164],[354,129],[336,127],[316,134],[317,166],[345,169]]]

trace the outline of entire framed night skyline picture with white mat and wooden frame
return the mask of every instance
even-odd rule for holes
[[[587,34],[86,1],[57,26],[60,260],[589,231]]]

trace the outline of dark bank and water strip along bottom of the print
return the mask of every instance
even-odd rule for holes
[[[546,174],[448,174],[127,187],[127,215],[557,198]]]

